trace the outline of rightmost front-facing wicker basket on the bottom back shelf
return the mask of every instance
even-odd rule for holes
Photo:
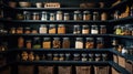
[[[109,74],[110,66],[94,66],[94,74]]]

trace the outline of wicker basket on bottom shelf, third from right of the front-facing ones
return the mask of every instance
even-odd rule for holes
[[[58,66],[59,74],[72,74],[71,66]]]

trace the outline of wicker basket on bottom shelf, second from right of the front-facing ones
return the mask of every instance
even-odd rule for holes
[[[75,66],[76,74],[91,74],[91,66]]]

